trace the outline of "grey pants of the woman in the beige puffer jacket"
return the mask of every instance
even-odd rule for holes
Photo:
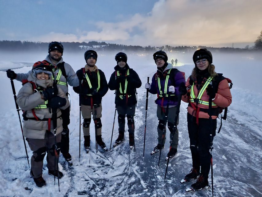
[[[28,145],[33,151],[31,157],[31,172],[33,178],[39,178],[42,176],[42,168],[44,163],[44,157],[47,153],[47,168],[49,170],[55,170],[55,136],[50,131],[45,132],[45,139],[31,139],[26,138]],[[61,133],[57,135],[57,159],[59,159],[60,153]],[[57,160],[58,162],[58,160]],[[56,166],[57,167],[57,166]]]

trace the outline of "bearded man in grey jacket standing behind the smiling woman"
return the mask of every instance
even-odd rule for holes
[[[65,94],[68,96],[68,85],[69,86],[79,86],[79,81],[76,76],[75,71],[72,67],[63,61],[62,55],[64,51],[64,46],[61,42],[50,42],[48,46],[48,55],[45,60],[50,64],[54,73],[54,81],[57,86],[60,87]],[[13,70],[7,70],[7,77],[10,79],[16,79],[21,81],[27,79],[30,72],[26,74],[14,73]],[[61,109],[61,118],[63,119],[63,131],[61,139],[61,153],[63,154],[69,165],[72,165],[71,155],[69,154],[69,129],[68,125],[70,123],[70,106],[66,109]]]

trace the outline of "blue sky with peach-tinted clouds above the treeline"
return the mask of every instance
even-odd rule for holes
[[[252,46],[262,0],[0,0],[0,40]]]

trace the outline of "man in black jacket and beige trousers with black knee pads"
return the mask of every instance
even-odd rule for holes
[[[83,132],[84,132],[84,147],[89,151],[90,147],[90,133],[89,125],[91,122],[91,114],[97,130],[96,141],[104,150],[108,150],[102,140],[102,97],[108,91],[108,83],[105,74],[98,69],[96,64],[97,53],[94,50],[87,50],[84,53],[86,65],[84,68],[76,71],[78,79],[81,81],[81,86],[73,87],[74,91],[80,94],[81,112],[84,118]]]

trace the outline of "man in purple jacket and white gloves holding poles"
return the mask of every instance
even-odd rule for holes
[[[180,107],[177,106],[178,94],[180,94],[178,88],[181,83],[185,85],[186,81],[179,70],[167,63],[167,55],[164,51],[159,50],[155,52],[153,58],[157,65],[157,72],[152,77],[152,83],[145,84],[145,88],[148,88],[151,94],[157,94],[155,103],[157,104],[157,117],[159,121],[157,127],[158,144],[154,147],[151,155],[154,155],[159,152],[161,148],[163,149],[165,147],[167,122],[170,131],[170,139],[174,133],[173,142],[171,144],[172,148],[167,154],[167,158],[172,158],[177,153],[178,148],[178,129],[174,131],[174,119],[178,107]]]

